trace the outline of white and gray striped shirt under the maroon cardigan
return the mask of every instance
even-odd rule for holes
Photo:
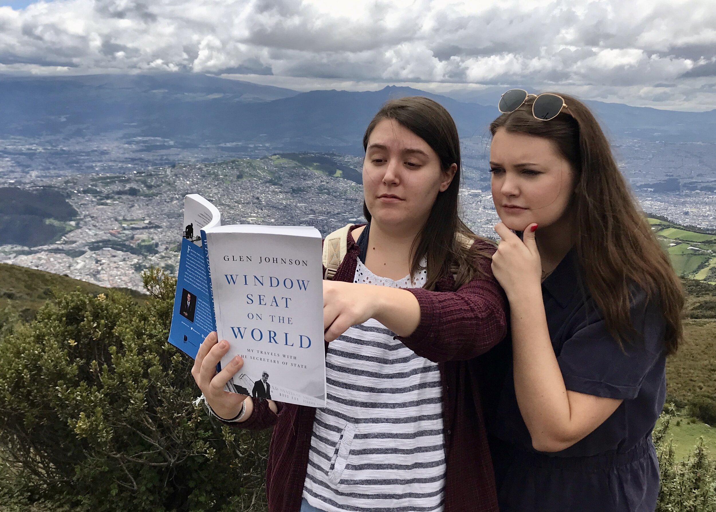
[[[359,260],[354,282],[417,288],[425,272],[394,281]],[[321,511],[442,511],[440,371],[394,336],[371,319],[329,343],[303,493]]]

